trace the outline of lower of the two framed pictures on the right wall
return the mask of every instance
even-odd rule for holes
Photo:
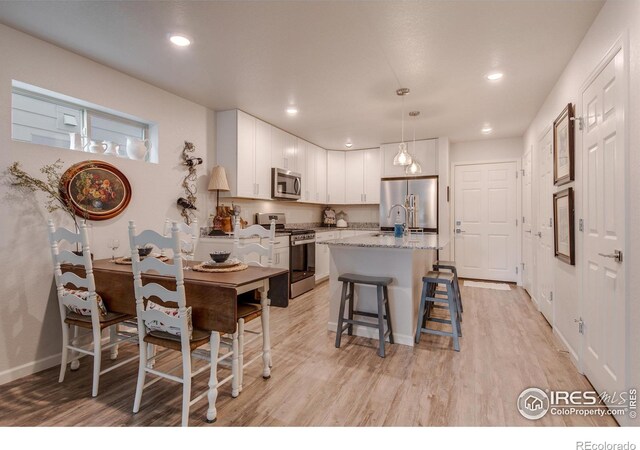
[[[575,265],[573,188],[553,194],[553,235],[556,258]]]

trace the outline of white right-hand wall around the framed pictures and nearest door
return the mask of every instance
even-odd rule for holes
[[[576,50],[571,61],[565,68],[553,90],[538,111],[535,119],[529,126],[525,138],[524,148],[534,149],[534,161],[538,150],[537,141],[541,133],[552,125],[553,120],[563,110],[567,103],[576,105],[576,115],[582,110],[581,90],[584,82],[596,68],[609,48],[615,41],[627,33],[628,57],[630,61],[629,72],[629,104],[627,120],[629,124],[629,164],[627,167],[627,251],[625,261],[627,268],[627,299],[628,315],[628,386],[640,386],[640,352],[637,343],[640,342],[640,277],[633,276],[640,267],[640,233],[637,232],[637,224],[640,222],[640,2],[638,1],[608,1],[591,28],[585,35],[582,43]],[[576,218],[582,217],[582,135],[576,133],[576,180],[574,183],[564,185],[573,186],[575,190]],[[535,181],[535,177],[534,177]],[[535,190],[535,185],[533,187]],[[582,233],[576,234],[576,265],[569,266],[558,260],[554,261],[554,303],[556,311],[555,330],[565,340],[575,354],[580,354],[580,335],[574,323],[574,318],[580,317],[581,302],[580,291],[582,282]],[[588,326],[588,325],[587,325]]]

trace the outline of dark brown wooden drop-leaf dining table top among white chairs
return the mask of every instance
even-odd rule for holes
[[[67,266],[63,270],[71,270],[82,277],[85,275],[84,268],[77,266]],[[116,264],[109,259],[96,260],[93,262],[93,273],[96,291],[107,310],[135,316],[136,298],[131,265]],[[163,275],[146,273],[142,275],[142,282],[175,289],[175,280]],[[225,273],[186,270],[184,287],[187,306],[192,307],[194,327],[234,333],[238,321],[238,296],[255,291],[256,302],[267,296],[271,306],[286,306],[289,271],[257,266]],[[252,297],[251,294],[249,297]]]

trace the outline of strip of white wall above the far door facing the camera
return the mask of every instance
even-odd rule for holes
[[[524,149],[522,138],[482,139],[451,144],[451,165],[461,162],[520,160]]]

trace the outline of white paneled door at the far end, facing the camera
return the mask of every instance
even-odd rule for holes
[[[464,278],[517,280],[515,162],[455,166],[455,260]]]

